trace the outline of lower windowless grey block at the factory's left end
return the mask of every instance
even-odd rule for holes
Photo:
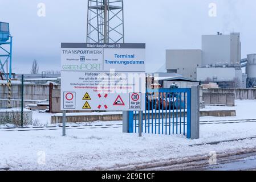
[[[175,72],[186,78],[196,80],[196,68],[201,67],[200,49],[166,50],[167,72]]]

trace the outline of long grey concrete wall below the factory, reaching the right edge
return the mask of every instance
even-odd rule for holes
[[[205,89],[204,93],[233,93],[235,100],[255,100],[256,89]]]

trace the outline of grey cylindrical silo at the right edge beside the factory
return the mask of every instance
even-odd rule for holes
[[[247,87],[256,86],[256,54],[247,55]]]

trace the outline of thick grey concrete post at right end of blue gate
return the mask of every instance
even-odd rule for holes
[[[191,88],[191,139],[200,137],[200,99],[199,87]]]

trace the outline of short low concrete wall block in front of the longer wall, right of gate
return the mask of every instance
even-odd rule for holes
[[[235,105],[234,93],[203,93],[202,99],[206,105]]]

